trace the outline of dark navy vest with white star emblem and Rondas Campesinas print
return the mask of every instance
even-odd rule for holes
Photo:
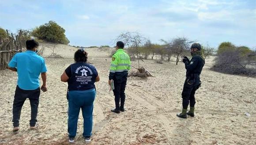
[[[69,65],[65,72],[69,77],[69,91],[90,90],[95,88],[94,83],[98,72],[93,65],[77,62]]]

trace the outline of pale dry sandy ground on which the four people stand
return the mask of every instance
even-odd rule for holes
[[[41,92],[39,130],[29,130],[30,104],[23,105],[19,134],[12,134],[12,102],[17,75],[0,71],[0,144],[68,144],[67,84],[60,75],[74,62],[77,48],[58,45],[56,53],[63,59],[45,58],[48,68],[48,91]],[[196,92],[195,117],[180,119],[181,91],[185,79],[184,64],[157,64],[145,60],[141,66],[154,77],[129,77],[125,112],[114,114],[113,92],[108,89],[109,49],[87,48],[89,61],[98,69],[94,101],[94,128],[90,145],[256,145],[256,78],[233,76],[209,70],[206,60],[201,74],[202,87]],[[49,46],[44,56],[51,54]],[[132,61],[137,66],[137,61]],[[132,71],[135,71],[134,69]],[[246,116],[248,112],[250,116]],[[80,112],[75,144],[82,138]]]

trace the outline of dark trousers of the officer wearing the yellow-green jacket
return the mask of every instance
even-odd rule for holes
[[[115,104],[116,109],[124,108],[124,101],[125,101],[125,87],[127,82],[127,75],[124,75],[123,77],[116,79],[114,77],[114,96],[115,96]],[[120,102],[120,105],[119,105]]]

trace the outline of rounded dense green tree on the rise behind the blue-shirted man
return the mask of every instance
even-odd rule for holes
[[[32,36],[48,42],[68,44],[69,40],[64,33],[64,28],[62,28],[54,21],[49,21],[44,25],[36,27],[32,31]]]

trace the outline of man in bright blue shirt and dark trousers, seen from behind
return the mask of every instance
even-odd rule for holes
[[[20,113],[26,98],[29,98],[31,107],[30,129],[33,130],[37,128],[36,122],[40,95],[40,73],[43,81],[41,90],[44,92],[47,91],[47,69],[45,66],[45,60],[35,53],[37,47],[38,42],[35,40],[27,40],[27,51],[15,54],[8,64],[8,69],[18,72],[18,85],[15,90],[12,111],[12,122],[14,127],[13,133],[18,133],[19,131]]]

